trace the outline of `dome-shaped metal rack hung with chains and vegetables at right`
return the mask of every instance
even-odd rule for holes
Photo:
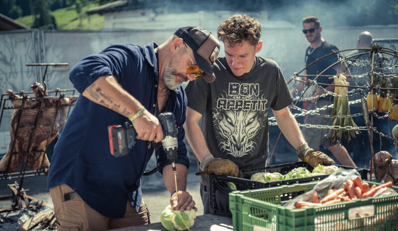
[[[391,39],[390,39],[391,40]],[[390,41],[389,40],[389,41]],[[397,40],[397,39],[395,39]],[[397,40],[398,41],[398,40]],[[355,54],[351,54],[349,52],[352,51],[357,51]],[[347,54],[348,53],[348,54]],[[305,73],[304,71],[306,70],[306,68],[308,68],[309,66],[313,65],[316,62],[319,62],[320,60],[327,58],[330,55],[337,55],[338,60],[331,64],[329,67],[327,67],[326,69],[322,70],[321,72],[319,72],[319,74],[317,75],[306,75],[303,74]],[[362,60],[359,59],[362,55],[365,55],[367,57],[369,57],[369,60]],[[343,65],[344,64],[344,65]],[[370,76],[371,80],[368,86],[364,86],[364,85],[359,85],[359,84],[355,84],[356,86],[344,86],[344,87],[348,87],[348,88],[352,88],[353,90],[348,92],[348,95],[346,96],[340,96],[335,94],[334,92],[330,92],[326,90],[327,86],[336,86],[334,84],[323,84],[323,83],[317,83],[316,80],[318,78],[330,78],[332,76],[330,75],[323,75],[323,73],[325,73],[328,69],[332,68],[335,65],[341,65],[343,67],[342,73],[345,74],[346,77],[352,77],[352,78],[367,78],[368,76]],[[357,75],[351,75],[350,72],[348,72],[347,70],[349,69],[349,67],[365,67],[368,68],[368,71],[366,71],[366,73],[361,73],[361,74],[357,74]],[[393,105],[397,104],[397,99],[392,99],[393,100],[393,105],[391,106],[390,110],[383,116],[379,116],[376,114],[376,110],[368,110],[366,107],[366,100],[364,102],[364,92],[372,92],[375,93],[376,90],[389,90],[389,91],[395,91],[396,94],[398,94],[398,89],[397,88],[381,88],[376,86],[375,84],[373,84],[373,76],[377,75],[381,78],[388,78],[388,79],[396,79],[398,78],[398,52],[394,49],[390,49],[390,48],[386,48],[383,47],[381,45],[378,44],[374,44],[372,46],[372,48],[353,48],[353,49],[346,49],[346,50],[341,50],[341,51],[335,51],[329,54],[324,55],[323,57],[320,57],[319,59],[315,60],[314,62],[310,63],[308,66],[306,66],[305,68],[303,68],[302,70],[300,70],[298,73],[295,73],[294,76],[292,77],[292,79],[288,82],[288,84],[292,81],[295,82],[303,82],[304,83],[304,89],[302,91],[302,94],[300,97],[298,97],[297,99],[295,99],[295,104],[293,107],[291,107],[291,111],[293,110],[297,110],[298,113],[293,114],[295,117],[298,116],[304,116],[307,114],[310,115],[317,115],[317,116],[323,116],[324,118],[331,118],[331,117],[343,117],[343,116],[338,116],[338,115],[321,115],[319,113],[319,111],[325,110],[325,109],[320,109],[317,108],[315,110],[311,110],[311,111],[307,111],[307,110],[303,110],[303,109],[298,109],[297,105],[299,102],[302,101],[311,101],[311,100],[316,100],[317,98],[320,97],[325,97],[325,96],[334,96],[334,97],[350,97],[350,96],[354,96],[354,95],[358,95],[361,94],[362,95],[362,99],[359,102],[349,102],[349,104],[354,104],[354,103],[361,103],[362,104],[362,109],[363,109],[363,113],[357,113],[355,115],[344,115],[344,117],[355,117],[355,116],[363,116],[365,119],[365,123],[366,126],[364,127],[342,127],[342,126],[328,126],[328,125],[323,125],[323,124],[299,124],[299,126],[301,127],[313,127],[313,128],[318,128],[318,129],[346,129],[346,130],[368,130],[368,136],[369,136],[369,142],[370,142],[370,150],[371,150],[371,160],[373,161],[373,163],[375,164],[375,153],[373,150],[373,132],[375,132],[376,134],[379,134],[380,136],[389,138],[389,139],[393,139],[395,140],[393,137],[388,136],[386,134],[383,134],[382,132],[377,130],[377,127],[373,127],[373,116],[376,116],[379,119],[384,119],[387,118],[388,115],[391,113],[392,109],[393,109]],[[306,79],[303,80],[301,77],[313,77],[313,80],[311,79]],[[312,88],[319,88],[322,89],[325,93],[319,96],[314,96],[314,97],[306,97],[304,98],[304,94],[307,92],[308,89],[310,89],[310,87]],[[340,86],[341,87],[341,86]],[[373,101],[373,94],[371,95],[372,97],[372,101]],[[392,98],[390,96],[390,98]],[[333,103],[333,101],[332,101]],[[331,103],[331,104],[332,104]],[[364,106],[365,103],[365,106]],[[331,108],[332,105],[329,103],[328,106],[326,106],[327,108]],[[370,115],[370,118],[369,118]],[[276,123],[276,119],[275,117],[270,117],[269,118],[269,124],[270,125],[277,125]],[[282,132],[279,133],[278,139],[276,141],[276,144],[274,146],[273,152],[270,156],[270,160],[268,163],[271,163],[272,157],[274,155],[274,152],[276,150],[276,147],[278,145],[278,141],[280,140]],[[395,140],[396,142],[396,140]],[[374,165],[372,164],[372,165]],[[371,169],[374,166],[370,166]],[[376,178],[378,177],[377,174],[377,169],[375,169],[376,171]],[[380,181],[381,179],[377,179],[378,181]]]

